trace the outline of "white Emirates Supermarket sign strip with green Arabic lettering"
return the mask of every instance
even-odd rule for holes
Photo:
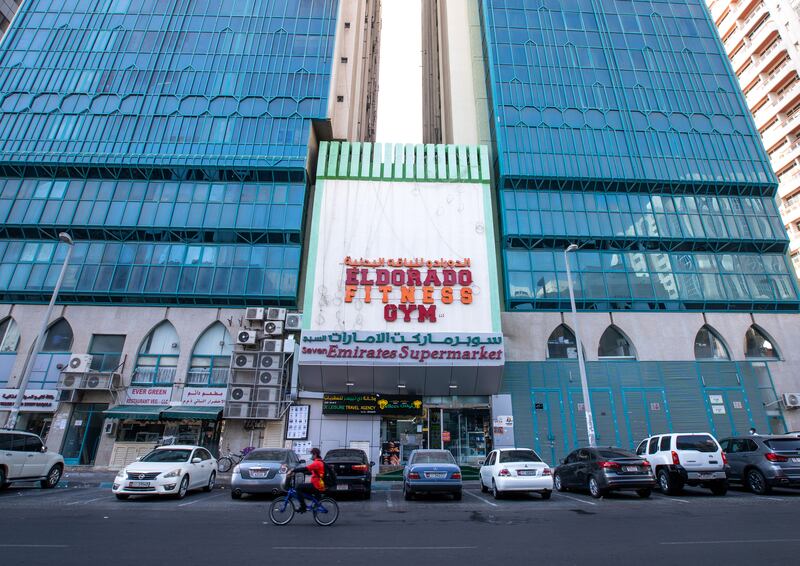
[[[502,365],[502,334],[304,331],[300,364]]]

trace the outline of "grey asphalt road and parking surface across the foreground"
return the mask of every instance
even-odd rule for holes
[[[399,486],[342,501],[332,527],[297,515],[269,523],[269,498],[227,489],[184,500],[118,501],[106,487],[0,493],[0,564],[781,564],[800,555],[800,491],[715,497],[554,493],[494,501],[469,485],[460,502],[406,502]],[[513,561],[513,562],[512,562]]]

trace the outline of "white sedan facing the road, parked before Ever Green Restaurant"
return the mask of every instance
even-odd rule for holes
[[[183,499],[190,489],[211,491],[217,477],[217,461],[200,446],[159,446],[129,464],[114,478],[117,499],[131,495],[171,495]]]

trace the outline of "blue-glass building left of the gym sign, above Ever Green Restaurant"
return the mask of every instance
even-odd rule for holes
[[[27,0],[0,46],[0,407],[68,231],[20,422],[68,463],[216,450],[243,307],[301,306],[318,142],[374,132],[377,0],[202,6]],[[265,423],[224,448],[282,442]]]

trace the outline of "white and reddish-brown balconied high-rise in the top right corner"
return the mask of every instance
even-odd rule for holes
[[[708,0],[772,168],[800,274],[800,3]]]

